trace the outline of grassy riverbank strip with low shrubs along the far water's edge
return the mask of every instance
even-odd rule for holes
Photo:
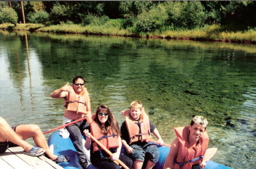
[[[53,33],[80,33],[85,35],[106,35],[106,36],[125,36],[125,37],[147,37],[160,39],[181,39],[198,41],[224,41],[234,43],[256,44],[256,31],[222,31],[224,28],[218,25],[207,26],[191,30],[168,30],[155,32],[134,33],[130,29],[123,29],[117,20],[111,20],[104,25],[81,26],[79,24],[58,24],[44,26],[43,24],[0,24],[1,29],[8,30],[27,30]]]

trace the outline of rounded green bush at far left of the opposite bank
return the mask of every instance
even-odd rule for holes
[[[17,23],[18,15],[14,9],[5,7],[0,11],[0,23]]]

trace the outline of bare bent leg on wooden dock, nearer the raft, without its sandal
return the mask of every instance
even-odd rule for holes
[[[26,140],[27,138],[33,138],[35,145],[38,147],[42,147],[46,150],[46,155],[49,159],[55,160],[57,159],[57,155],[53,154],[51,150],[49,150],[46,138],[42,133],[41,129],[38,125],[35,124],[27,124],[27,125],[18,125],[16,126],[15,131],[20,138]]]

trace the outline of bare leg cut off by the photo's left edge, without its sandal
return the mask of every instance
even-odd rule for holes
[[[32,149],[32,145],[18,136],[10,125],[0,117],[0,142],[10,141],[22,147],[26,152]]]

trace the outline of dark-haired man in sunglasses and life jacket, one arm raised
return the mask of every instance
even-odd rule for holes
[[[84,83],[84,77],[76,76],[73,78],[72,86],[67,83],[63,87],[52,92],[52,98],[64,99],[65,113],[63,124],[81,119],[85,115],[91,115],[90,97],[86,87],[84,87]],[[85,130],[89,126],[85,124],[86,120],[82,120],[66,127],[70,134],[69,137],[79,154],[79,163],[82,168],[86,168],[88,165],[81,136],[81,131]]]

